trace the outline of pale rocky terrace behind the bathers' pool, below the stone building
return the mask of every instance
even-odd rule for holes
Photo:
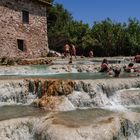
[[[46,58],[47,59],[47,58]],[[47,61],[45,58],[44,61]],[[107,58],[110,67],[120,67],[123,71],[123,66],[128,65],[130,62],[134,63],[134,66],[140,69],[140,64],[133,62],[131,57],[118,57],[118,58]],[[38,60],[24,60],[24,61],[35,61],[35,63],[25,63],[24,65],[11,65],[11,66],[0,66],[0,75],[41,75],[41,74],[57,74],[57,73],[77,73],[77,72],[98,72],[103,58],[78,58],[74,59],[72,64],[68,64],[69,59],[60,58],[48,58],[48,63],[39,63],[42,59]],[[41,61],[42,62],[42,61]],[[37,65],[38,64],[38,65]],[[33,73],[32,73],[33,72]]]

